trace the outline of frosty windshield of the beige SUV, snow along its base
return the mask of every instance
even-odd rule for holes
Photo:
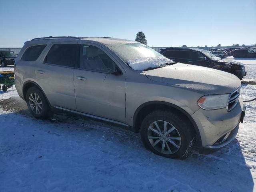
[[[141,43],[121,43],[107,46],[134,70],[143,71],[174,63]]]

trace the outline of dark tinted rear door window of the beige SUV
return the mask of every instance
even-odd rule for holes
[[[75,67],[76,62],[76,44],[54,44],[44,62],[48,64]]]

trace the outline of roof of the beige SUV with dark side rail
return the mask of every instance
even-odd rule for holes
[[[41,38],[34,38],[30,42],[63,42],[63,41],[94,41],[99,42],[105,45],[108,44],[118,44],[118,43],[138,43],[132,40],[126,39],[118,39],[118,38],[111,38],[111,37],[73,37],[73,36],[61,36],[61,37],[41,37]]]

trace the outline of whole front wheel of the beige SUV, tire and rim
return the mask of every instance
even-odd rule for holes
[[[153,153],[167,158],[186,158],[194,143],[191,124],[170,111],[159,110],[142,121],[143,144]]]

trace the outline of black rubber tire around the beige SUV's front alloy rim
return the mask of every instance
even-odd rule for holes
[[[163,140],[160,140],[160,142],[158,142],[158,144],[156,144],[155,147],[152,146],[152,141],[154,142],[154,140],[151,139],[151,142],[150,142],[150,139],[148,138],[148,133],[151,131],[151,129],[149,127],[156,121],[157,122],[164,122],[164,121],[168,122],[169,124],[174,126],[174,128],[176,128],[176,130],[174,131],[174,134],[175,134],[175,132],[176,132],[176,134],[178,132],[178,135],[180,136],[180,140],[178,140],[178,142],[179,142],[178,145],[180,145],[180,148],[177,148],[178,150],[176,152],[174,152],[175,150],[174,151],[171,150],[171,151],[173,151],[172,154],[170,153],[170,151],[169,151],[170,154],[166,154],[166,150],[168,149],[166,145],[168,145],[169,149],[175,148],[175,146],[173,144],[169,143],[168,140],[166,140],[166,143],[164,145],[164,149],[166,149],[166,150],[163,153],[156,149],[157,145],[160,145],[160,148],[161,148],[164,140],[168,139],[167,137],[164,138]],[[172,128],[172,126],[170,126],[170,128]],[[159,126],[159,128],[160,128],[160,126]],[[195,134],[193,132],[193,128],[192,128],[192,125],[190,124],[190,122],[188,122],[188,120],[185,117],[176,115],[175,113],[166,111],[166,110],[156,110],[156,111],[148,114],[142,121],[142,125],[140,128],[140,135],[141,135],[141,139],[142,139],[144,146],[146,148],[148,148],[149,150],[151,150],[154,154],[164,156],[167,158],[174,158],[174,159],[184,159],[184,158],[188,157],[189,153],[192,149],[192,146],[194,144],[194,139],[195,139]],[[160,135],[158,135],[158,137],[159,136]],[[170,137],[170,134],[168,137]],[[162,136],[161,136],[161,138],[162,138]],[[175,142],[177,142],[177,141],[175,141]]]

